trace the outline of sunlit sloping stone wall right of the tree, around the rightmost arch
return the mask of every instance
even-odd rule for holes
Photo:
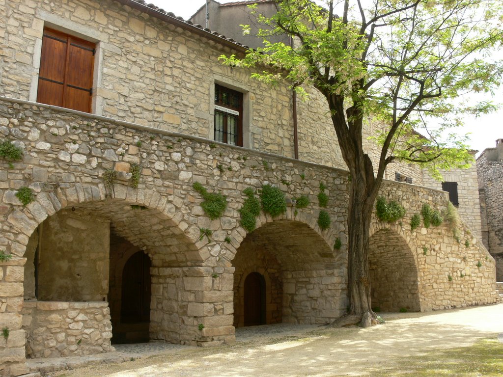
[[[422,224],[414,231],[410,229],[411,217],[421,213],[423,204],[429,204],[445,217],[447,193],[390,181],[384,182],[381,193],[401,203],[407,213],[393,224],[374,218],[371,235],[390,229],[410,249],[417,268],[421,311],[499,302],[495,293],[494,258],[462,219],[455,227],[456,232],[446,221],[439,227],[425,228]],[[385,254],[395,253],[393,245],[388,244]]]

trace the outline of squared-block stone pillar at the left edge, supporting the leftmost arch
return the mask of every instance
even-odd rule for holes
[[[23,280],[26,258],[0,262],[0,375],[28,373],[22,329]],[[8,333],[8,336],[6,336]]]

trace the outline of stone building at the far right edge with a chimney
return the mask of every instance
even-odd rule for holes
[[[503,139],[477,158],[482,243],[496,260],[497,281],[503,281]]]

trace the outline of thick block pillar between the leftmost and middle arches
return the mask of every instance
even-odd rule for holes
[[[235,340],[234,267],[154,267],[150,337],[216,345]]]

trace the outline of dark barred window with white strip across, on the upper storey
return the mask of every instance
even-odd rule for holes
[[[215,84],[213,137],[216,141],[243,145],[243,93]]]

